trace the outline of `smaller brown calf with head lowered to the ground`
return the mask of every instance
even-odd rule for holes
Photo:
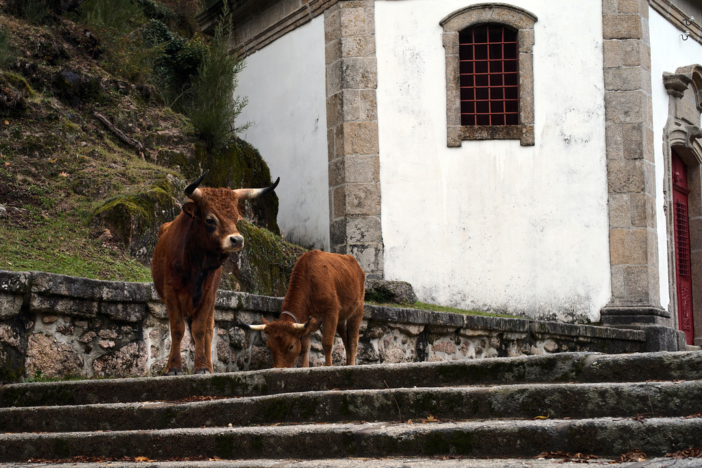
[[[310,335],[322,326],[324,361],[331,366],[334,330],[346,351],[346,365],[356,363],[358,333],[363,319],[364,274],[351,255],[312,250],[293,267],[279,319],[250,326],[265,330],[274,367],[293,367],[303,352],[310,366]]]

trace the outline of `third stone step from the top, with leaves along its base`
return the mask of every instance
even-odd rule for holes
[[[0,462],[70,457],[225,460],[282,457],[534,457],[543,452],[614,457],[633,448],[663,456],[702,445],[701,418],[366,422],[153,431],[0,435]]]

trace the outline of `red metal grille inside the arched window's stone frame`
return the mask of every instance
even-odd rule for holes
[[[458,38],[461,125],[519,125],[517,32],[488,23]]]

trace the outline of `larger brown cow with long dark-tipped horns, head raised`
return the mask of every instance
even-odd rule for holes
[[[222,264],[244,247],[237,230],[239,203],[272,192],[280,178],[265,189],[198,188],[207,172],[185,187],[190,199],[178,218],[161,226],[151,274],[166,303],[171,326],[171,355],[164,373],[182,375],[180,342],[185,321],[195,342],[195,373],[212,373],[212,335]]]

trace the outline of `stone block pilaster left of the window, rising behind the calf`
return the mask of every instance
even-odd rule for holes
[[[324,12],[331,251],[354,255],[383,278],[373,0]]]

